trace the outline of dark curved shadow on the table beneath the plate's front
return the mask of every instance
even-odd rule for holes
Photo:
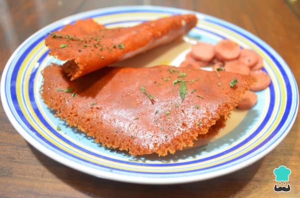
[[[231,197],[242,190],[254,177],[263,159],[237,172],[219,178],[181,185],[137,185],[114,182],[89,176],[63,166],[30,146],[32,153],[59,180],[86,196],[101,198],[148,197]]]

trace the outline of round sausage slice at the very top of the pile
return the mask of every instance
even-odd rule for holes
[[[240,48],[238,44],[231,40],[221,40],[215,47],[215,54],[218,59],[221,60],[233,60],[236,59],[240,54]]]

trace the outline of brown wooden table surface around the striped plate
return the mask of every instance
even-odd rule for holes
[[[0,1],[0,70],[13,50],[41,27],[94,8],[142,2],[196,10],[232,22],[259,36],[290,66],[300,82],[300,3],[295,0],[2,0]],[[191,184],[134,185],[94,178],[67,168],[25,142],[0,105],[0,197],[299,197],[300,117],[270,154],[235,173]],[[289,193],[273,192],[273,169],[291,169]]]

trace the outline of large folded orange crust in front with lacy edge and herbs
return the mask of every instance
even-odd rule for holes
[[[165,156],[191,147],[217,120],[227,118],[255,82],[237,73],[166,65],[106,67],[70,81],[61,66],[52,64],[42,76],[42,99],[57,116],[96,143],[134,156]]]

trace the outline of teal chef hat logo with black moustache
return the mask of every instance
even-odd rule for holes
[[[273,171],[275,175],[275,182],[278,182],[274,186],[274,191],[275,192],[289,192],[290,191],[290,186],[289,184],[286,185],[285,182],[288,182],[288,176],[291,174],[290,169],[286,168],[285,166],[280,166]]]

